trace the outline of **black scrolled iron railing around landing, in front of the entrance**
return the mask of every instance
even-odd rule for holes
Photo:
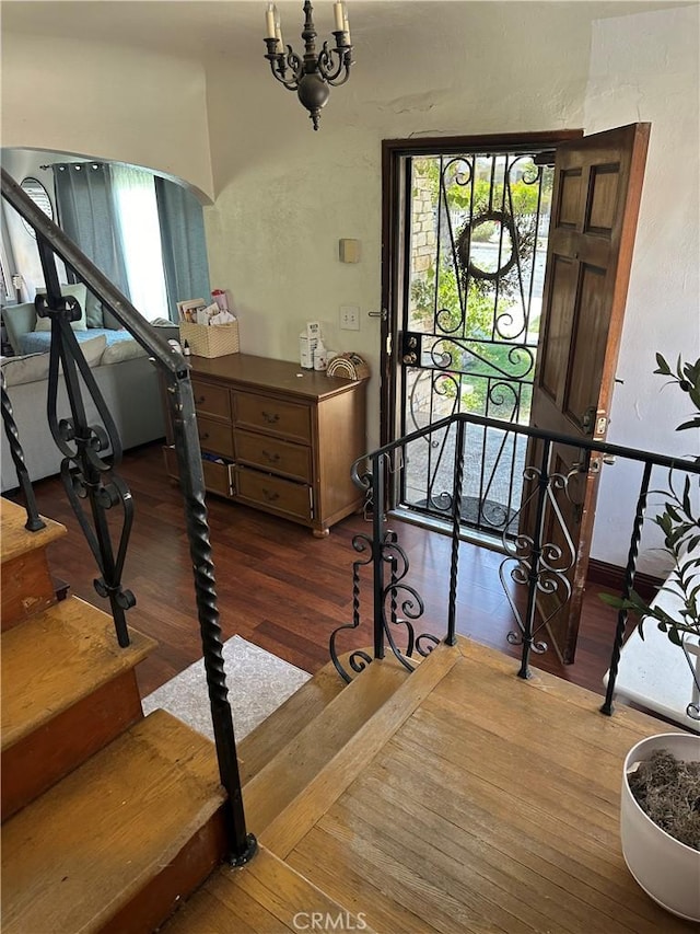
[[[623,570],[620,602],[628,600],[634,588],[650,494],[652,492],[665,494],[665,489],[651,489],[654,469],[668,472],[669,477],[684,475],[700,477],[700,462],[696,460],[669,458],[593,439],[572,438],[527,425],[515,425],[466,413],[453,414],[365,454],[353,464],[352,476],[355,485],[365,492],[368,503],[365,511],[371,511],[372,534],[361,533],[353,539],[354,550],[363,557],[353,564],[352,621],[336,629],[329,643],[330,657],[346,681],[350,681],[353,673],[360,672],[373,659],[384,658],[387,647],[405,668],[413,670],[420,656],[428,655],[436,644],[445,642],[454,645],[456,642],[459,542],[465,538],[463,500],[469,427],[482,429],[483,433],[488,430],[500,434],[511,433],[528,441],[530,462],[526,462],[523,470],[523,500],[520,509],[515,510],[505,522],[499,549],[504,553],[499,575],[516,624],[515,629],[509,633],[508,641],[511,645],[521,647],[521,666],[517,674],[524,679],[530,677],[529,665],[533,653],[540,655],[548,649],[545,636],[549,624],[573,596],[574,588],[570,578],[576,561],[576,545],[567,528],[562,512],[564,500],[574,508],[581,505],[572,498],[575,483],[573,477],[579,475],[585,477],[590,470],[599,472],[604,459],[606,463],[627,461],[641,465],[633,515],[630,519],[628,557]],[[440,439],[433,440],[433,443],[444,446],[445,437],[451,437],[454,441],[452,489],[441,494],[447,503],[448,509],[445,509],[445,514],[450,519],[447,528],[443,531],[451,535],[452,544],[445,635],[439,638],[434,635],[434,631],[439,630],[440,625],[433,624],[432,621],[432,633],[416,634],[415,624],[421,618],[423,620],[428,618],[427,608],[421,595],[408,580],[409,557],[399,543],[398,533],[388,528],[392,505],[388,498],[388,475],[405,470],[411,456],[411,445],[421,439],[428,442],[431,439]],[[558,445],[579,450],[579,462],[568,474],[558,473],[553,466],[555,446]],[[522,519],[525,514],[528,519],[526,524],[523,524]],[[366,566],[372,568],[373,650],[372,654],[366,650],[354,650],[346,657],[342,654],[343,638],[362,624],[362,568]],[[516,593],[517,588],[522,588],[522,597],[513,596],[509,580],[516,585]],[[556,609],[545,611],[542,607],[546,601],[549,601],[550,606],[553,603]],[[608,715],[612,713],[612,697],[620,653],[628,632],[628,610],[619,609],[606,699],[600,708]],[[697,667],[685,645],[682,648],[686,650],[696,690],[700,691]],[[690,706],[688,715],[697,718]]]

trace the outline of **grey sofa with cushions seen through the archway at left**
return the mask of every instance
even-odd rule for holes
[[[16,355],[2,358],[5,389],[30,478],[37,481],[58,473],[62,453],[51,437],[46,416],[49,355],[47,351],[23,351],[27,341],[35,341],[42,333],[50,338],[50,332],[35,330],[34,304],[4,308],[2,318]],[[156,327],[166,339],[177,337],[177,327],[170,322]],[[165,426],[158,371],[147,351],[122,330],[98,326],[73,330],[115,420],[122,448],[128,450],[162,438]],[[102,424],[92,399],[86,394],[84,397],[89,424]],[[57,411],[59,418],[70,415],[66,388],[60,378]],[[4,429],[1,434],[1,488],[4,492],[18,486],[18,477]]]

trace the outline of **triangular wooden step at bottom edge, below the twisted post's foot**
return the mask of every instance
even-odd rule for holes
[[[342,931],[366,931],[352,912],[264,846],[242,870],[222,866],[184,904],[165,927],[166,934],[270,934],[311,929],[311,913],[342,916]],[[296,918],[296,924],[294,919]]]

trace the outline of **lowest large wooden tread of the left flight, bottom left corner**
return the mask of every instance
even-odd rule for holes
[[[4,934],[102,930],[223,800],[212,743],[154,711],[4,825]]]

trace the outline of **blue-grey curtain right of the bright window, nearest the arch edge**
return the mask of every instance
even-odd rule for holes
[[[156,176],[155,197],[168,311],[171,319],[177,321],[178,301],[210,300],[205,219],[197,198],[182,185]]]

